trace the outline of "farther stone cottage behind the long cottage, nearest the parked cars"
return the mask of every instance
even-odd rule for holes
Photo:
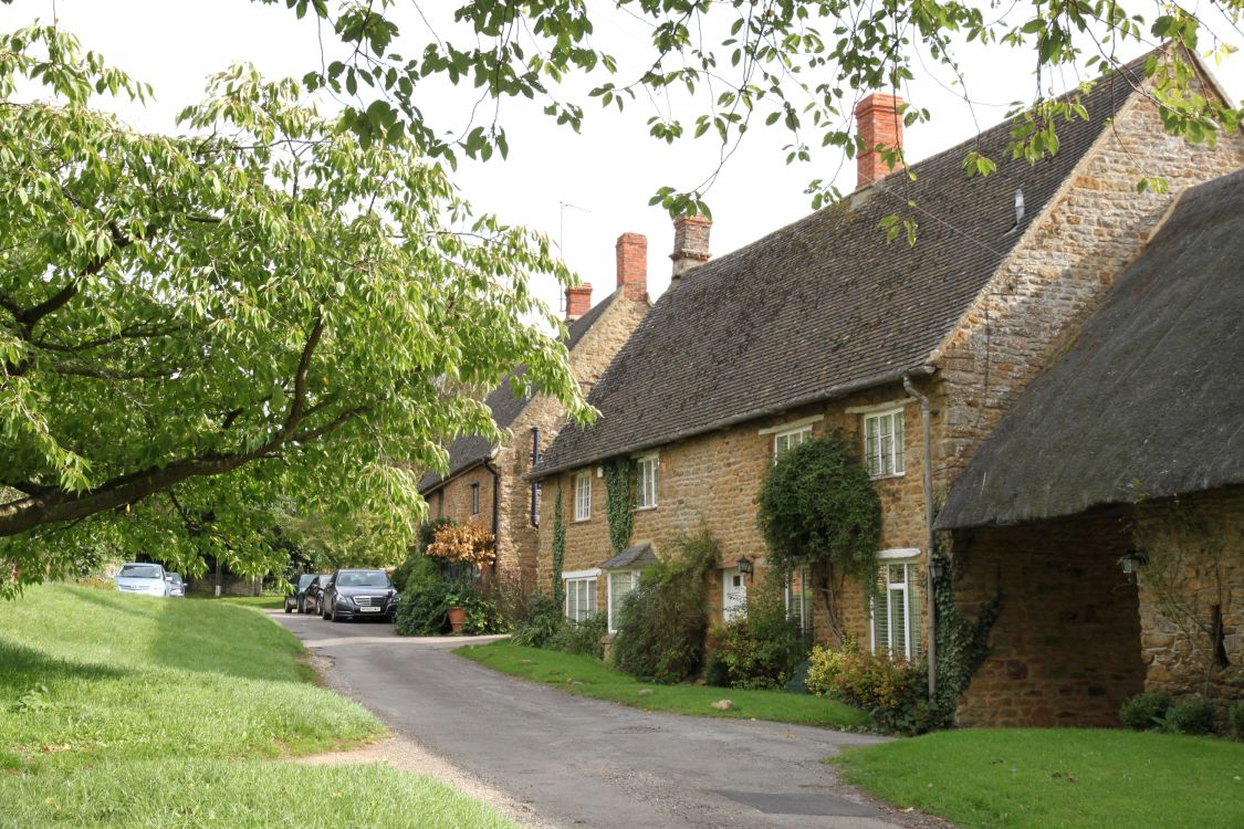
[[[566,349],[583,393],[648,313],[648,241],[622,234],[617,245],[617,288],[592,306],[592,286],[566,288]],[[486,398],[493,420],[506,430],[501,444],[478,435],[449,445],[449,471],[429,472],[419,493],[435,518],[474,521],[496,537],[495,575],[530,585],[539,546],[540,487],[524,480],[534,459],[565,424],[561,405],[549,395],[518,396],[508,377]]]

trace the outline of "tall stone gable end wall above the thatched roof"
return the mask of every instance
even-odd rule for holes
[[[948,488],[1033,377],[1098,309],[1176,196],[1242,165],[1244,133],[1222,137],[1217,148],[1189,144],[1168,135],[1140,96],[1122,107],[932,358],[945,406],[935,491]],[[1169,194],[1138,194],[1141,175],[1164,176]]]

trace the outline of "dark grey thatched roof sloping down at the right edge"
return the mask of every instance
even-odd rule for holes
[[[1187,190],[950,488],[942,529],[1244,483],[1244,170]]]

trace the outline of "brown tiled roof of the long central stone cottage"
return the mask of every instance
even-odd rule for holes
[[[1132,67],[1138,66],[1133,63]],[[1090,119],[1059,124],[1057,155],[1006,152],[1003,123],[683,276],[596,384],[601,416],[561,430],[536,475],[689,437],[896,380],[923,365],[1029,224],[1132,94],[1136,70],[1085,96]],[[998,163],[968,178],[978,147]],[[1025,216],[1015,226],[1015,191]],[[914,200],[913,214],[907,201]],[[914,247],[878,221],[919,222]]]

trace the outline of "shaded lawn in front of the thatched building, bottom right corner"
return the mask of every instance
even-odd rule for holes
[[[962,829],[1239,829],[1244,743],[1107,730],[947,731],[829,761]]]

